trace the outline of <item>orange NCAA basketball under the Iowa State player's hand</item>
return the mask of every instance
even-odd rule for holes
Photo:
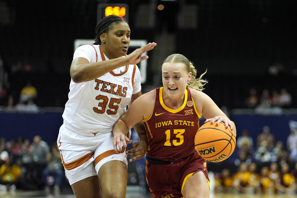
[[[210,122],[203,124],[195,136],[195,149],[200,156],[210,162],[226,160],[235,149],[235,136],[225,123]]]

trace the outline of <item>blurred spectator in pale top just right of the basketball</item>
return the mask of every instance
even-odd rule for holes
[[[241,131],[241,136],[238,137],[236,146],[239,150],[244,151],[247,156],[252,156],[254,143],[247,129]]]

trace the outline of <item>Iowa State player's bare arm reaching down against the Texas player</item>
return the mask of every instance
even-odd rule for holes
[[[113,146],[114,151],[117,153],[121,148],[121,142],[123,142],[124,147],[127,143],[131,143],[132,140],[126,136],[129,130],[139,123],[144,118],[149,118],[152,114],[156,98],[156,90],[150,91],[138,97],[129,107],[127,112],[118,119],[118,121],[114,124],[113,127]]]

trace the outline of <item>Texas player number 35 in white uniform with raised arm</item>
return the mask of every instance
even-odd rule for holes
[[[141,95],[136,63],[153,49],[149,43],[125,56],[130,28],[121,17],[110,15],[96,27],[96,43],[75,50],[70,68],[69,100],[58,135],[65,174],[76,197],[125,197],[126,144],[114,151],[112,127]],[[137,133],[144,133],[141,123]],[[131,132],[127,135],[131,135]],[[131,143],[132,140],[127,143]],[[145,146],[143,148],[146,148]],[[143,157],[145,150],[139,153]],[[102,193],[101,193],[102,190]]]

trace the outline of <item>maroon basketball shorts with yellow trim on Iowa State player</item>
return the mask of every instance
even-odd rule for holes
[[[145,174],[154,198],[183,197],[182,189],[193,173],[203,171],[209,183],[206,160],[195,152],[172,164],[158,164],[146,161]]]

